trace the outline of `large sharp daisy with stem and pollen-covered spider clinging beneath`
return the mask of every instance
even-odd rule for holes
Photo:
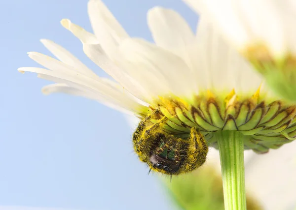
[[[208,146],[220,150],[225,209],[245,209],[243,150],[265,153],[296,138],[296,106],[274,97],[261,77],[204,18],[196,33],[175,11],[154,7],[155,43],[133,38],[101,0],[88,2],[93,33],[61,24],[113,80],[97,76],[60,45],[42,39],[58,59],[30,52],[45,68],[21,67],[65,92],[137,116],[133,144],[150,170],[178,175],[201,166]],[[233,202],[235,201],[235,202]]]

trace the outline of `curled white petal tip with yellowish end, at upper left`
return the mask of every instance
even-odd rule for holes
[[[98,44],[98,40],[94,34],[72,23],[69,19],[62,19],[61,24],[65,29],[70,30],[74,36],[80,39],[82,43]]]

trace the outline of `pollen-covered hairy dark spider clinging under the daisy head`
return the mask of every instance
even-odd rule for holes
[[[139,123],[133,144],[140,160],[148,164],[150,171],[168,175],[190,172],[204,164],[208,147],[199,130],[192,127],[188,138],[178,137],[162,129],[167,120],[154,110]]]

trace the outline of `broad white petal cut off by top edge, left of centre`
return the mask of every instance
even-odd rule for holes
[[[128,34],[101,0],[89,0],[88,15],[99,43],[111,57],[118,44],[129,37]]]

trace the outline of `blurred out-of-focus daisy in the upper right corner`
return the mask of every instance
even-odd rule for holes
[[[278,95],[296,101],[294,0],[184,0],[219,28]]]

